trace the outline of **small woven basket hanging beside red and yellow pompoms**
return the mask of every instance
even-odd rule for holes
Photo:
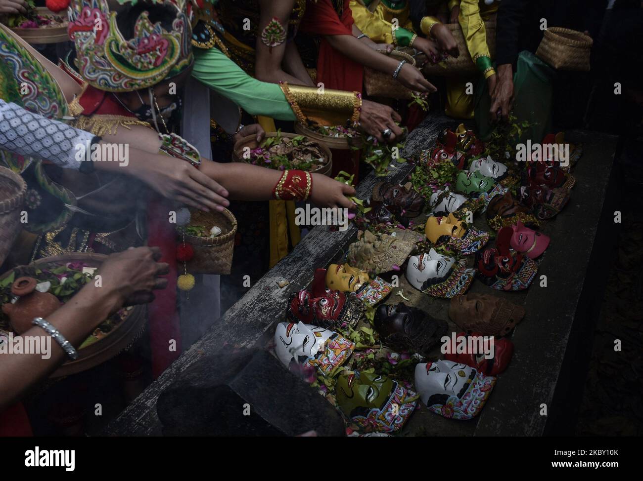
[[[190,224],[213,226],[221,229],[215,238],[204,238],[185,234],[185,241],[194,248],[194,257],[188,261],[188,274],[230,274],[232,254],[237,234],[237,219],[224,209],[222,212],[190,211]]]

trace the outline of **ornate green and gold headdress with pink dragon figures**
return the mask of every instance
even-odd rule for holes
[[[76,45],[78,71],[90,85],[109,92],[145,89],[192,65],[188,0],[153,1],[176,12],[172,30],[165,30],[161,22],[152,24],[143,11],[134,25],[134,38],[125,39],[107,0],[71,0],[69,38]]]

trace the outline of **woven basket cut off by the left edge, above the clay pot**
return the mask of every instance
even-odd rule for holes
[[[0,167],[0,265],[20,232],[20,209],[27,184],[12,170]]]

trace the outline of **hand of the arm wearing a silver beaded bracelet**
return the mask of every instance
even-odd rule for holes
[[[113,310],[152,302],[152,291],[167,286],[167,279],[159,276],[170,271],[167,263],[158,262],[160,258],[158,247],[130,247],[111,254],[98,268],[96,274],[100,275],[101,285],[96,289],[99,293],[113,295]]]

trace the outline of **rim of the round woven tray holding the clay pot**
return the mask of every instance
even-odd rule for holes
[[[100,267],[100,265],[107,259],[104,254],[93,254],[85,252],[71,252],[69,254],[60,254],[60,256],[51,256],[48,258],[38,259],[32,262],[28,267],[45,268],[48,266],[59,266],[68,262],[83,262],[88,267]],[[16,267],[13,270],[5,272],[0,276],[0,279],[5,279],[14,270],[19,270]],[[105,361],[113,358],[116,354],[128,349],[136,339],[140,337],[145,329],[147,322],[147,307],[143,305],[132,306],[126,311],[127,315],[112,331],[107,333],[105,337],[95,340],[95,342],[80,347],[78,349],[78,359],[69,360],[68,362],[60,365],[60,367],[51,374],[51,378],[60,378],[62,376],[69,376],[70,374],[77,374],[78,372],[87,371]],[[1,333],[2,331],[0,331]]]

